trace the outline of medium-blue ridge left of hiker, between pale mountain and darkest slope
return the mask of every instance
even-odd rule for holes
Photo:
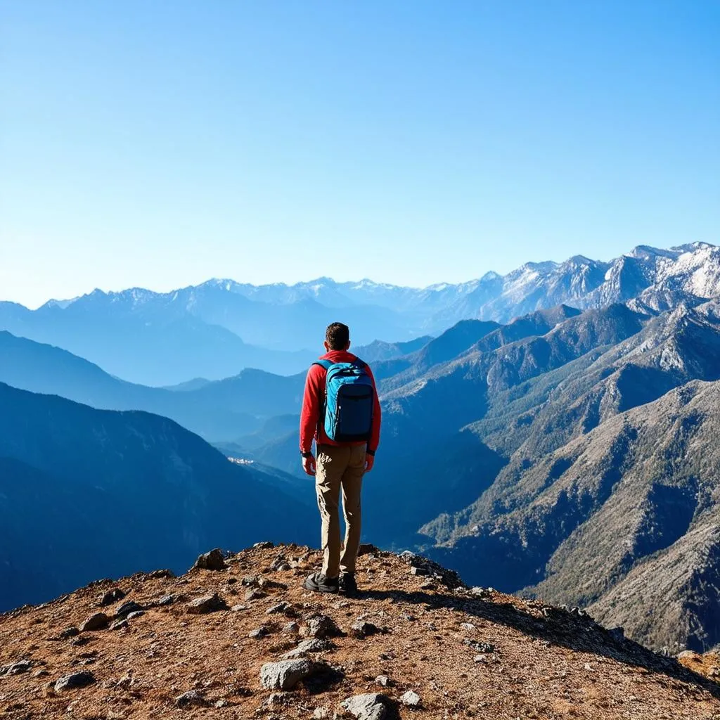
[[[147,410],[172,418],[207,440],[233,441],[258,431],[269,418],[297,412],[305,374],[284,377],[248,369],[176,391],[145,387],[112,377],[60,348],[0,331],[0,382],[94,408]]]

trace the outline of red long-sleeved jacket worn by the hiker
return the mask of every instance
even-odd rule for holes
[[[331,350],[328,354],[323,355],[320,360],[329,360],[330,362],[353,362],[357,357],[345,350]],[[372,379],[372,386],[375,387],[375,379],[372,377],[372,371],[369,366],[365,366],[367,374]],[[305,380],[305,395],[302,398],[302,413],[300,413],[300,452],[310,452],[312,449],[312,438],[318,441],[318,444],[325,445],[362,445],[363,442],[354,443],[337,443],[330,440],[325,434],[325,428],[318,428],[318,420],[320,420],[320,409],[325,395],[325,376],[327,371],[323,366],[311,365],[307,371],[307,379]],[[318,433],[320,435],[318,436]],[[372,413],[372,433],[367,444],[369,452],[374,453],[380,442],[380,401],[377,398],[377,388],[375,390],[375,407]]]

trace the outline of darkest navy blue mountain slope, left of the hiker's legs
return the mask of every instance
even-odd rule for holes
[[[233,464],[166,418],[0,384],[0,610],[185,570],[208,547],[309,541],[313,502],[311,486]]]

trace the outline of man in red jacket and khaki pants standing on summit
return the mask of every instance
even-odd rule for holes
[[[328,325],[325,355],[307,372],[300,415],[302,468],[315,476],[322,519],[323,569],[306,578],[320,593],[357,593],[355,559],[360,544],[362,478],[372,470],[380,440],[380,403],[369,366],[351,352],[350,330]],[[312,455],[315,438],[317,457]],[[343,492],[345,542],[338,505]]]

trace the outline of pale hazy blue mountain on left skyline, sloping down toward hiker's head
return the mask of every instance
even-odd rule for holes
[[[64,348],[111,374],[148,385],[221,379],[246,367],[292,374],[314,355],[248,345],[227,328],[153,302],[155,297],[143,291],[96,291],[64,308],[50,303],[19,312],[17,306],[0,305],[0,329]]]

